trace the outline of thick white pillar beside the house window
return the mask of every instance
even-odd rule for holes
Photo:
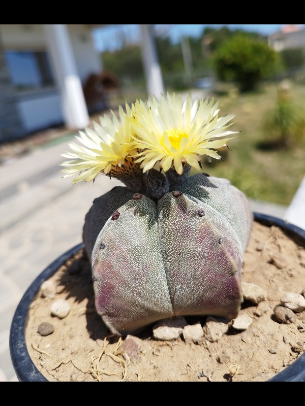
[[[88,125],[89,116],[67,27],[65,24],[45,24],[45,30],[62,95],[66,125],[83,128]]]

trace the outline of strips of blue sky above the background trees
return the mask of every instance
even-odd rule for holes
[[[227,25],[230,28],[258,31],[263,35],[268,35],[271,32],[279,30],[283,24],[156,24],[156,29],[168,33],[170,38],[176,42],[179,41],[181,36],[198,37],[205,26],[222,27],[223,25]],[[130,42],[137,42],[139,39],[139,25],[111,25],[96,29],[94,38],[97,49],[103,51],[119,48],[123,34]]]

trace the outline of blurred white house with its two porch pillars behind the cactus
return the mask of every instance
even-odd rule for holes
[[[118,91],[120,84],[111,72],[102,72],[92,37],[98,26],[0,24],[0,142],[62,123],[83,128],[88,110],[109,107],[109,91]],[[142,24],[141,36],[148,93],[160,94],[149,25]]]

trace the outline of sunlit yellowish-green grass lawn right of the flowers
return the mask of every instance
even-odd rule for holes
[[[305,114],[305,86],[293,85],[293,100]],[[204,171],[211,176],[228,178],[248,197],[289,205],[305,176],[305,137],[290,149],[266,150],[262,120],[277,97],[275,85],[260,92],[216,96],[220,99],[221,115],[235,114],[232,129],[241,131],[230,141],[231,151],[225,149],[224,161],[206,162]],[[230,128],[231,129],[231,128]]]

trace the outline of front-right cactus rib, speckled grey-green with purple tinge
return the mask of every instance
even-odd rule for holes
[[[168,193],[158,204],[161,252],[174,313],[230,319],[241,301],[240,244],[216,210],[190,197],[176,199]],[[204,221],[193,215],[198,206],[204,206]]]

